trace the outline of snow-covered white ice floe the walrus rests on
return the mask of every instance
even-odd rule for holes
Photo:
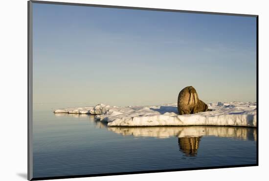
[[[179,115],[177,104],[160,106],[67,108],[54,113],[95,114],[95,119],[108,122],[108,126],[247,126],[256,127],[256,102],[209,103],[214,111]]]

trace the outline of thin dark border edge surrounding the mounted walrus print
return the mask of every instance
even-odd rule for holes
[[[256,102],[257,102],[257,144],[256,144],[256,164],[243,164],[243,165],[226,165],[226,166],[211,166],[211,167],[196,167],[196,168],[181,168],[181,169],[166,169],[166,170],[149,170],[149,171],[135,171],[135,172],[118,172],[118,173],[104,173],[104,174],[87,174],[87,175],[70,175],[70,176],[57,176],[57,177],[40,177],[33,178],[33,153],[32,153],[32,3],[42,4],[55,4],[55,5],[72,5],[72,6],[91,6],[91,7],[103,7],[103,8],[118,8],[118,9],[136,9],[136,10],[150,10],[150,11],[167,11],[167,12],[181,12],[181,13],[197,13],[197,14],[213,14],[213,15],[225,15],[225,16],[243,16],[243,17],[255,17],[256,18]],[[175,9],[159,9],[159,8],[146,8],[146,7],[130,7],[130,6],[114,6],[114,5],[101,5],[101,4],[85,4],[85,3],[70,3],[70,2],[55,2],[55,1],[40,1],[29,0],[27,1],[27,180],[52,180],[52,179],[70,179],[70,178],[85,178],[85,177],[99,177],[99,176],[112,176],[112,175],[129,175],[129,174],[144,174],[144,173],[158,173],[158,172],[175,172],[175,171],[187,171],[187,170],[205,170],[205,169],[218,169],[218,168],[236,168],[236,167],[248,167],[259,165],[259,132],[258,132],[258,115],[259,115],[259,16],[249,14],[233,14],[233,13],[219,13],[219,12],[205,12],[205,11],[187,11],[187,10],[175,10]]]

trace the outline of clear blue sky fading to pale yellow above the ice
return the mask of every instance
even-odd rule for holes
[[[33,4],[34,103],[256,101],[256,18]]]

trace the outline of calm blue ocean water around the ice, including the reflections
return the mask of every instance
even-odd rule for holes
[[[34,178],[256,163],[254,128],[110,128],[57,108],[34,105]]]

